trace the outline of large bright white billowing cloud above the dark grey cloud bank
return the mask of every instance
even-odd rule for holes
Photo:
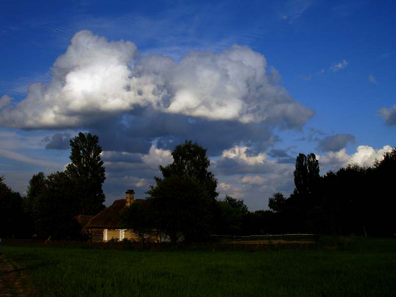
[[[264,56],[247,47],[190,52],[177,63],[161,55],[141,57],[132,42],[108,42],[84,30],[54,62],[49,85],[30,85],[16,105],[2,100],[8,104],[0,125],[83,127],[149,107],[207,120],[302,127],[314,111],[276,85],[266,67]]]

